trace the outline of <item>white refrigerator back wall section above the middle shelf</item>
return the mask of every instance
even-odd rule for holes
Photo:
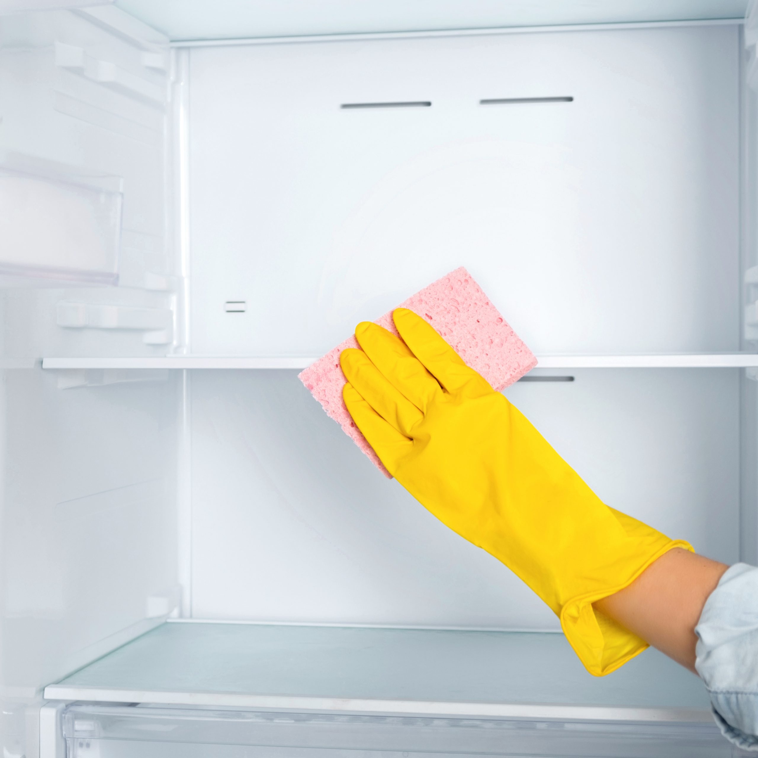
[[[738,349],[737,26],[186,54],[193,352],[317,356],[459,265],[537,353]]]

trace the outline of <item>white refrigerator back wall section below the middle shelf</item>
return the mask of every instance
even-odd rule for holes
[[[737,561],[739,370],[572,373],[506,394],[606,503]],[[295,371],[196,371],[191,389],[196,617],[559,628],[382,477]]]

